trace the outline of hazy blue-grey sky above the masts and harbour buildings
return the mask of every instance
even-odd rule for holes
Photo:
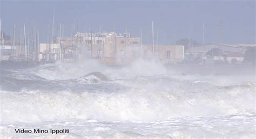
[[[41,42],[46,42],[48,26],[56,10],[55,29],[65,24],[65,35],[72,34],[73,20],[79,32],[116,30],[133,35],[143,30],[143,42],[151,43],[151,22],[154,20],[158,42],[173,44],[181,38],[202,42],[219,42],[221,21],[223,43],[255,43],[255,1],[1,1],[2,29],[12,35],[14,24],[31,30],[33,19],[39,27]],[[17,29],[18,30],[18,29]],[[18,31],[17,35],[18,35]]]

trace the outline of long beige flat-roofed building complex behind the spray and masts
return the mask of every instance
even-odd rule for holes
[[[129,34],[117,34],[115,32],[77,33],[72,38],[53,38],[54,44],[41,44],[40,59],[78,60],[95,58],[103,63],[130,63],[138,58],[169,63],[184,60],[184,46],[154,46],[153,55],[152,46],[142,45],[140,41],[140,38],[131,37]]]

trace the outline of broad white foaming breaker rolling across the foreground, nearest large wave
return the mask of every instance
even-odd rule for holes
[[[1,92],[2,121],[40,122],[67,119],[100,121],[168,120],[182,116],[217,116],[254,112],[255,84],[251,87],[213,88],[187,93],[131,89],[123,92],[75,93],[23,90]]]

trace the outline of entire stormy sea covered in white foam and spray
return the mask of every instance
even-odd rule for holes
[[[255,138],[254,70],[143,60],[1,67],[0,137]]]

